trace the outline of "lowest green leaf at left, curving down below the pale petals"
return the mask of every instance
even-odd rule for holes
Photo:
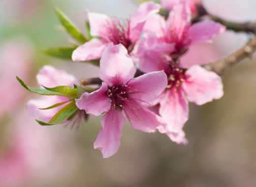
[[[75,101],[72,101],[71,103],[67,104],[65,107],[60,109],[48,123],[40,120],[36,121],[40,125],[55,125],[69,118],[77,109],[78,108],[75,105]]]

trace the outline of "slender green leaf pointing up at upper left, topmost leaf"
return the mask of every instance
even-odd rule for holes
[[[74,26],[71,20],[69,20],[69,18],[59,8],[54,8],[54,10],[60,22],[65,27],[67,33],[70,34],[70,36],[72,36],[74,39],[81,43],[85,43],[88,41],[84,37],[84,35]]]

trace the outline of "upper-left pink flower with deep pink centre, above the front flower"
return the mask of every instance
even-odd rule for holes
[[[99,39],[93,38],[79,46],[73,52],[72,59],[74,61],[99,59],[110,42],[115,45],[122,44],[130,52],[139,39],[148,16],[157,13],[159,9],[160,5],[154,2],[142,3],[132,14],[126,27],[118,19],[87,11],[91,34]]]

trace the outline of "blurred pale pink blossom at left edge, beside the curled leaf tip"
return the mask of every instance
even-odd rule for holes
[[[23,101],[26,90],[16,76],[30,80],[32,69],[32,47],[26,40],[16,39],[3,42],[0,46],[0,118],[6,112],[18,107]],[[17,94],[19,93],[19,94]]]

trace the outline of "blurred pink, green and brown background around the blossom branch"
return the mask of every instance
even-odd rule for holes
[[[236,22],[256,21],[255,0],[203,0],[207,10]],[[41,50],[68,45],[53,7],[85,33],[85,10],[127,19],[131,0],[0,0],[0,187],[256,187],[256,58],[223,76],[224,97],[190,104],[184,131],[188,146],[163,134],[123,129],[118,152],[103,159],[93,143],[101,117],[79,131],[44,127],[26,110],[38,98],[19,85],[37,87],[46,64],[77,79],[97,77],[91,64],[48,57]],[[193,47],[189,60],[211,60],[241,48],[243,33],[226,31],[213,44]],[[209,50],[207,50],[209,49]],[[200,58],[199,58],[200,57]]]

